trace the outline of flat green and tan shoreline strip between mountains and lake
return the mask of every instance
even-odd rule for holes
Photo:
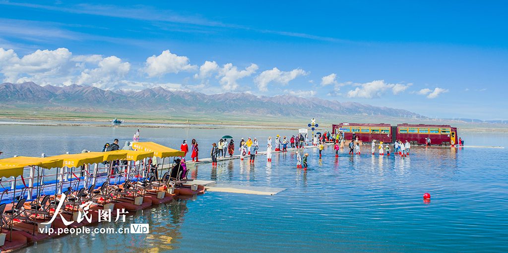
[[[73,113],[73,112],[37,112],[36,114],[29,115],[26,111],[22,114],[20,112],[6,113],[0,110],[0,121],[2,119],[12,120],[9,122],[0,123],[0,125],[30,125],[30,122],[16,123],[15,121],[38,121],[35,125],[39,126],[97,126],[97,127],[111,127],[109,123],[112,119],[126,121],[127,125],[119,125],[118,127],[153,127],[153,128],[256,128],[256,129],[299,129],[307,128],[310,121],[303,118],[273,118],[265,117],[260,119],[259,116],[217,116],[208,115],[207,117],[201,116],[155,116],[155,115],[138,115],[138,114],[92,114],[92,113]],[[47,122],[44,122],[47,121]],[[68,121],[68,122],[66,122]],[[90,123],[84,123],[90,122]],[[355,123],[417,123],[417,124],[439,124],[439,125],[452,125],[459,128],[459,131],[501,131],[508,133],[508,125],[501,124],[487,124],[487,123],[465,123],[465,122],[451,122],[451,121],[434,121],[434,120],[411,120],[400,118],[389,118],[379,116],[343,116],[336,121],[331,119],[320,120],[319,129],[331,129],[332,124],[341,122],[355,122]],[[96,124],[97,123],[97,124]],[[139,123],[139,124],[136,124]],[[151,124],[151,125],[148,125]]]

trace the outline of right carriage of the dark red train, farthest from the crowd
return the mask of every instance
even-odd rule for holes
[[[425,144],[427,137],[432,145],[457,144],[457,128],[450,125],[398,124],[395,135],[411,144]]]

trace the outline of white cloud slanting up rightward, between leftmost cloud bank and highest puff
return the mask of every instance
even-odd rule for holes
[[[129,73],[130,69],[129,62],[123,62],[116,56],[109,56],[99,61],[96,68],[83,70],[76,84],[91,85],[102,89],[115,88],[111,84],[121,80]]]

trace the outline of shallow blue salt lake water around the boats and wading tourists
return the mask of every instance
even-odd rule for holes
[[[0,126],[1,158],[40,156],[83,149],[99,151],[113,138],[131,140],[134,128]],[[212,141],[232,135],[290,135],[288,130],[141,129],[141,140],[179,148],[183,138],[200,143],[207,157]],[[504,146],[506,134],[461,133],[466,145]],[[505,149],[414,147],[407,158],[362,155],[332,147],[309,149],[309,170],[296,156],[274,154],[248,161],[201,164],[192,176],[235,185],[287,190],[275,196],[207,192],[142,210],[128,221],[99,227],[150,224],[149,234],[70,235],[20,252],[506,252],[508,166]],[[238,151],[237,151],[238,153]],[[423,194],[432,195],[424,203]]]

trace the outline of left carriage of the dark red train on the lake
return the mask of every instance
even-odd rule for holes
[[[344,132],[345,139],[351,139],[353,133],[363,142],[371,142],[373,139],[383,142],[392,142],[392,126],[390,124],[362,124],[362,123],[341,123],[332,125],[332,133]]]

